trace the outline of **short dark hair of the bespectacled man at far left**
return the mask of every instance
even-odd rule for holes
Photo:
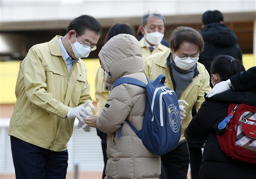
[[[90,15],[82,15],[74,18],[68,25],[67,33],[70,30],[75,30],[78,35],[84,34],[85,30],[91,30],[100,35],[101,25],[98,20]]]

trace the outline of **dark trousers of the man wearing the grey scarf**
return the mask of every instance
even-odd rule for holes
[[[168,179],[187,179],[189,165],[188,142],[161,156]]]

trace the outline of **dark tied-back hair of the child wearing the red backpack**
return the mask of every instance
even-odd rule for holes
[[[221,81],[226,81],[230,76],[245,70],[243,64],[228,55],[216,56],[212,60],[211,74],[218,74]]]

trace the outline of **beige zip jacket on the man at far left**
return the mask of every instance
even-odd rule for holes
[[[16,82],[16,104],[8,135],[28,143],[64,151],[73,132],[69,109],[92,100],[86,66],[79,59],[68,68],[58,38],[30,48],[20,63]]]

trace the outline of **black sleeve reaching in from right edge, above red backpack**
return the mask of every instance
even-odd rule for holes
[[[234,91],[256,89],[256,66],[230,77]]]

